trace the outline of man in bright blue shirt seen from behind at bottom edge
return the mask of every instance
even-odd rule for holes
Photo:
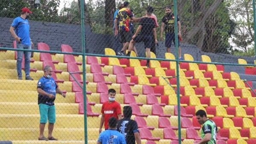
[[[116,130],[116,124],[116,118],[109,118],[109,128],[100,133],[97,144],[126,144],[124,135]]]

